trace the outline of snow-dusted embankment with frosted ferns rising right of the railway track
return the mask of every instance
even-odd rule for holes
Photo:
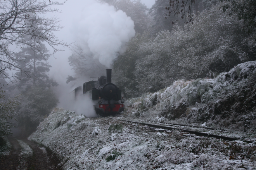
[[[176,81],[166,89],[131,99],[126,106],[125,116],[152,120],[156,117],[152,110],[157,109],[160,116],[183,124],[206,122],[255,133],[256,61],[239,64],[214,79]]]

